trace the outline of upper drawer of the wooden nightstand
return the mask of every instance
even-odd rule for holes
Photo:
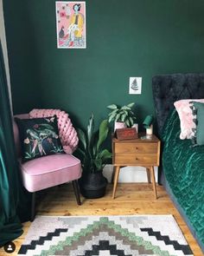
[[[149,143],[115,143],[115,153],[157,153],[158,144]]]

